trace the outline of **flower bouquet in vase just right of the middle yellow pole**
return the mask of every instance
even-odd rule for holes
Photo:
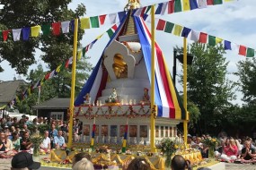
[[[170,138],[164,138],[157,145],[157,149],[161,149],[161,152],[166,157],[165,166],[170,167],[172,161],[172,155],[180,149],[181,143],[178,140],[172,140]]]

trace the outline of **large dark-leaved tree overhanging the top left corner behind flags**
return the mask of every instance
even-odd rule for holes
[[[1,0],[4,8],[0,15],[0,29],[19,29],[35,25],[50,25],[57,21],[71,21],[85,14],[84,4],[78,5],[75,12],[69,10],[67,4],[71,0]],[[84,30],[79,30],[78,42],[82,39]],[[2,38],[3,39],[3,38]],[[43,35],[40,38],[30,38],[28,41],[13,42],[11,34],[7,41],[0,41],[0,62],[8,61],[18,73],[27,73],[28,67],[35,63],[35,49],[39,48],[43,61],[52,70],[57,64],[72,56],[73,32],[59,36]],[[79,43],[78,43],[79,46]],[[0,66],[0,72],[3,71]]]

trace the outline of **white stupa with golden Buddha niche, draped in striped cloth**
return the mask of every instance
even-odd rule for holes
[[[95,122],[94,142],[121,144],[128,123],[128,144],[149,144],[151,34],[143,18],[133,15],[139,7],[137,0],[129,0],[126,16],[75,99],[75,116],[83,122],[84,142],[90,141]],[[185,119],[185,110],[162,50],[156,42],[154,46],[155,140],[161,140],[176,136],[176,125]],[[86,95],[91,103],[84,105]]]

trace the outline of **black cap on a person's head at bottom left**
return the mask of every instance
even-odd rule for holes
[[[34,162],[33,157],[28,152],[19,152],[14,155],[12,159],[12,167],[13,168],[25,168],[28,167],[29,169],[39,169],[40,163]]]

